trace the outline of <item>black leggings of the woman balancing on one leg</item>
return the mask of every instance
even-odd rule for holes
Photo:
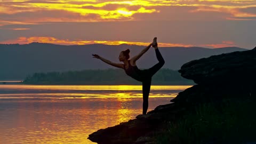
[[[146,70],[148,76],[145,80],[142,81],[142,92],[143,92],[143,112],[142,112],[142,114],[147,114],[147,110],[148,110],[148,96],[149,96],[149,91],[150,91],[150,86],[151,86],[151,77],[159,69],[161,69],[165,63],[159,50],[155,49],[155,51],[156,51],[156,58],[158,60],[158,63],[155,66]]]

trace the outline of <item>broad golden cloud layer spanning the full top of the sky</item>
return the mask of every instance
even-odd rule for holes
[[[172,7],[185,7],[181,12],[199,13],[199,12],[216,12],[229,14],[230,17],[226,19],[236,20],[239,18],[250,19],[255,17],[255,13],[245,12],[241,9],[250,9],[256,7],[254,0],[173,0],[173,1],[74,1],[74,0],[58,0],[58,1],[36,1],[36,0],[17,0],[17,1],[2,1],[0,3],[0,17],[1,14],[15,15],[21,22],[101,22],[101,21],[134,21],[145,20],[144,15],[158,13],[157,18],[161,20],[170,20],[167,15],[166,7],[169,7],[172,13]],[[193,10],[188,7],[193,7]],[[74,15],[75,17],[66,18],[54,17],[58,12],[64,11]],[[51,12],[51,14],[49,14]],[[179,12],[179,11],[178,11]],[[36,13],[38,17],[30,18],[30,15]],[[43,14],[42,14],[43,13]],[[44,14],[45,13],[45,14]],[[190,14],[189,14],[190,13]],[[142,17],[138,18],[138,15]],[[92,17],[93,15],[93,17]],[[195,14],[196,15],[196,14]],[[206,14],[205,14],[206,15]],[[21,17],[19,17],[21,16]],[[180,17],[177,15],[177,17]],[[22,19],[21,19],[22,18]],[[145,17],[148,18],[148,17]],[[205,17],[206,18],[206,17]],[[220,18],[220,17],[219,17]],[[8,20],[8,17],[2,18],[2,21]],[[175,18],[173,18],[175,19]],[[177,19],[186,19],[181,17]],[[188,16],[189,19],[189,16]],[[187,20],[187,19],[186,19]],[[0,26],[6,25],[0,22]]]

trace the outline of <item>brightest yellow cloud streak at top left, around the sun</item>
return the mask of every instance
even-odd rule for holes
[[[59,1],[61,2],[61,1]],[[67,1],[64,1],[67,2]],[[105,10],[104,6],[109,4],[119,5],[118,9],[115,10]],[[140,5],[137,10],[129,10],[131,5]],[[98,14],[102,19],[118,19],[122,17],[132,17],[135,13],[154,13],[157,12],[155,9],[146,9],[148,6],[147,1],[127,1],[127,2],[103,2],[103,3],[93,3],[93,4],[70,4],[70,3],[6,3],[0,5],[0,12],[2,13],[18,13],[18,12],[35,12],[35,11],[52,11],[52,10],[64,10],[74,13],[79,13],[81,15],[87,14]],[[84,7],[102,7],[102,9],[86,9]],[[143,7],[144,6],[144,7]]]

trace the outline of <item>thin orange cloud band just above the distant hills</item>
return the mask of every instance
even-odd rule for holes
[[[18,37],[7,41],[0,41],[0,44],[31,44],[31,43],[50,43],[55,45],[88,45],[88,44],[105,44],[105,45],[141,45],[147,46],[150,42],[133,42],[133,41],[113,41],[113,40],[87,40],[87,39],[59,39],[55,37]],[[221,41],[219,43],[208,44],[186,44],[186,43],[164,43],[158,42],[159,47],[205,47],[215,49],[220,47],[238,47],[233,41]]]

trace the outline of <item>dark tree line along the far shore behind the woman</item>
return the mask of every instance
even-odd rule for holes
[[[96,69],[66,72],[34,73],[23,81],[24,84],[141,84],[127,76],[123,69]],[[180,76],[177,70],[160,69],[153,77],[152,84],[178,85],[194,84]]]

